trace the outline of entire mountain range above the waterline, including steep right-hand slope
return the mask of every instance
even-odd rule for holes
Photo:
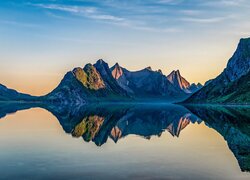
[[[164,101],[192,103],[250,103],[250,38],[241,39],[227,67],[202,86],[190,84],[179,70],[164,75],[146,67],[129,71],[102,59],[66,73],[49,94],[33,97],[0,86],[0,101],[45,101],[61,104],[91,102]]]

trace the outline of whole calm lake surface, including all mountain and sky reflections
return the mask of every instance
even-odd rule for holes
[[[0,104],[1,179],[250,178],[250,108],[39,106]]]

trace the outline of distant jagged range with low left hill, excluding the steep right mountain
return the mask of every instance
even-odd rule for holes
[[[176,73],[175,73],[176,72]],[[129,71],[116,63],[113,67],[99,59],[66,73],[60,84],[43,97],[32,97],[3,86],[0,100],[32,100],[61,104],[84,104],[97,101],[173,101],[182,100],[202,87],[191,84],[179,70],[165,76],[150,67]],[[15,92],[14,94],[12,93]],[[7,93],[8,92],[8,93]]]

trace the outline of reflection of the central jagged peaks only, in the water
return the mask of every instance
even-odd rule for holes
[[[201,120],[183,106],[88,106],[79,109],[55,109],[47,107],[59,120],[66,133],[93,141],[97,146],[106,143],[108,137],[114,142],[134,134],[146,139],[161,136],[167,130],[179,137],[189,123]]]

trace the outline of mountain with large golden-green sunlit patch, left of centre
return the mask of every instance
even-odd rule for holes
[[[85,104],[91,101],[115,101],[129,98],[113,78],[108,64],[98,60],[84,68],[69,71],[60,84],[43,97],[50,102],[61,104]]]

